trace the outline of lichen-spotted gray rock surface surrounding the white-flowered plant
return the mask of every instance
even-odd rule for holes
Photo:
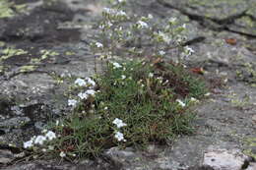
[[[0,60],[2,169],[216,170],[222,166],[222,156],[228,162],[240,162],[246,170],[256,169],[253,159],[247,159],[256,158],[255,0],[130,1],[130,13],[150,13],[157,23],[170,17],[186,23],[189,45],[195,50],[186,64],[204,68],[212,94],[194,108],[197,134],[179,137],[170,145],[150,145],[146,150],[113,147],[94,161],[75,163],[39,158],[21,161],[18,157],[25,154],[23,142],[38,134],[49,118],[69,111],[64,95],[68,85],[61,81],[95,74],[89,43],[97,33],[94,24],[106,4],[93,0],[12,2],[28,3],[29,9],[11,19],[0,19],[0,41],[4,42],[0,58],[5,49],[27,53]],[[236,43],[227,43],[228,38]],[[173,58],[171,54],[169,58]],[[96,66],[99,68],[100,63]],[[234,149],[241,150],[239,155],[243,156],[235,156]]]

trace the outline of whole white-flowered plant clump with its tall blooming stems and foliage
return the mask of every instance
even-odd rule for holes
[[[181,63],[195,52],[184,46],[186,26],[171,18],[158,28],[151,14],[127,14],[125,3],[103,9],[101,33],[91,44],[96,57],[106,59],[104,73],[74,80],[67,92],[71,113],[52,124],[52,132],[25,142],[25,148],[48,144],[70,160],[96,157],[111,146],[167,143],[193,133],[189,106],[207,91]],[[164,61],[173,49],[178,60]]]

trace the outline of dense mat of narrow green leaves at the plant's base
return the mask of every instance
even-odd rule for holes
[[[77,105],[62,126],[55,126],[61,135],[55,142],[58,150],[83,157],[97,156],[114,145],[172,142],[177,135],[193,133],[194,114],[188,107],[194,102],[190,98],[206,92],[202,81],[180,65],[143,60],[128,61],[120,68],[108,63],[96,84],[99,92]],[[118,129],[115,118],[127,126]],[[125,142],[118,142],[116,132],[122,132]]]

